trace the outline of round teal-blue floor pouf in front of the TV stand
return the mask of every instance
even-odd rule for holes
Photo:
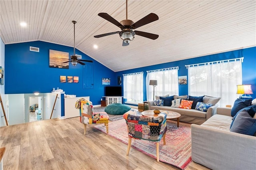
[[[113,103],[105,108],[105,112],[110,115],[124,115],[124,113],[130,111],[130,107],[122,103]]]

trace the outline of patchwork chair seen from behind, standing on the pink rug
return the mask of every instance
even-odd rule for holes
[[[157,117],[136,116],[129,113],[123,115],[128,130],[128,148],[126,155],[129,154],[132,138],[143,139],[156,142],[156,160],[159,162],[159,142],[165,142],[166,134],[166,113],[160,113]]]

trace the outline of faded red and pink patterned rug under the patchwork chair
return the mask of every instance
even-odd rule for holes
[[[104,125],[94,126],[106,132]],[[108,124],[108,134],[121,142],[128,144],[128,134],[125,120],[118,120]],[[166,145],[159,144],[159,160],[184,170],[191,160],[191,129],[190,124],[167,121]],[[156,143],[147,140],[132,140],[132,148],[156,159]]]

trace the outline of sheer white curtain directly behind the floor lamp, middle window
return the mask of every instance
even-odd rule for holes
[[[149,85],[150,80],[157,80],[155,95],[179,95],[178,89],[178,67],[147,71],[146,89],[147,100],[153,100],[153,86]]]

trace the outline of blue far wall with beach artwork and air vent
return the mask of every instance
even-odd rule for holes
[[[40,52],[30,51],[30,46],[39,47]],[[111,86],[117,85],[114,71],[76,49],[76,54],[94,64],[94,89],[83,89],[83,66],[70,63],[69,69],[49,67],[49,49],[74,53],[73,47],[42,41],[5,45],[5,94],[50,93],[53,87],[59,87],[68,95],[90,96],[93,104],[98,105],[104,96],[102,78],[110,78]],[[60,83],[60,75],[78,76],[79,82]]]

